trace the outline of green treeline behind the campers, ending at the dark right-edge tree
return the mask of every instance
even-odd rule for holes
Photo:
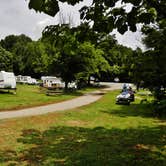
[[[66,84],[88,81],[90,76],[103,81],[115,77],[131,80],[135,51],[119,45],[115,36],[93,31],[88,24],[48,26],[38,41],[23,34],[9,35],[0,45],[0,70],[15,75],[56,75]]]

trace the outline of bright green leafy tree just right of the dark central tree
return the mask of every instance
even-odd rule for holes
[[[108,72],[110,65],[104,58],[104,52],[101,49],[96,49],[90,42],[84,42],[80,44],[78,55],[80,56],[80,65],[82,66],[82,72],[77,74],[78,79],[88,80],[90,83],[90,76],[98,76],[102,72]]]

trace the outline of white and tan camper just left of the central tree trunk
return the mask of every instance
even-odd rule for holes
[[[50,89],[62,89],[65,87],[64,83],[57,77],[54,76],[43,76],[43,87]]]

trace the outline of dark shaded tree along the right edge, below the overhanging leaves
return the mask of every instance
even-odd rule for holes
[[[156,26],[144,27],[143,33],[143,41],[149,50],[140,58],[140,65],[144,69],[141,79],[144,86],[154,92],[159,100],[161,89],[166,88],[166,21],[162,20]]]

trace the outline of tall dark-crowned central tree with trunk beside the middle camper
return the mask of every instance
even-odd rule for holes
[[[79,70],[78,43],[74,34],[66,24],[47,26],[42,41],[51,45],[54,55],[50,68],[53,74],[63,79],[67,89],[68,83],[76,79],[75,74]]]

